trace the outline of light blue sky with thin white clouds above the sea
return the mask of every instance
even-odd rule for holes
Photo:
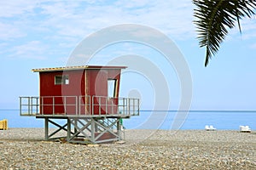
[[[205,48],[199,48],[196,39],[193,8],[191,0],[1,1],[0,109],[18,109],[19,96],[38,96],[38,73],[32,68],[65,66],[85,37],[108,26],[137,24],[162,32],[183,54],[193,82],[191,110],[255,111],[256,16],[241,20],[241,34],[238,27],[230,30],[218,54],[204,67]],[[169,88],[169,109],[177,109],[180,77],[155,49],[119,42],[102,48],[89,64],[105,65],[125,54],[143,56],[158,67]],[[120,94],[140,97],[142,109],[161,102],[155,101],[157,89],[142,73],[127,71],[121,81]]]

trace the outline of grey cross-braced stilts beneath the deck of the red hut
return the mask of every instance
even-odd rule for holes
[[[67,139],[70,143],[106,143],[121,140],[120,118],[78,118],[68,117],[67,123],[60,125],[49,117],[44,117],[45,140]],[[49,133],[49,123],[57,127],[54,132]],[[56,136],[61,131],[65,136]],[[63,135],[63,133],[61,133]]]

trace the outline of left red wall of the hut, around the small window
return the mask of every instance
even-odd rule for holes
[[[62,74],[68,75],[69,84],[55,84],[55,76]],[[75,97],[63,99],[61,96],[85,95],[84,85],[84,71],[40,72],[40,96],[44,97],[41,98],[41,105],[44,105],[44,107],[41,108],[41,113],[53,114],[53,112],[55,112],[55,114],[75,114],[79,108],[73,104],[78,102],[79,97],[77,99]],[[60,97],[55,97],[55,101],[53,101],[52,97],[48,98],[46,96]],[[64,102],[67,104],[66,109],[64,109]],[[55,107],[52,106],[53,103],[55,104]]]

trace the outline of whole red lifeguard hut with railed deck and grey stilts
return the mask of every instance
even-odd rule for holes
[[[121,140],[122,119],[139,115],[139,99],[120,98],[125,66],[67,66],[32,69],[39,73],[39,97],[20,97],[20,116],[44,119],[45,139],[70,143]],[[58,120],[64,120],[62,125]],[[49,123],[55,130],[49,133]],[[65,132],[65,136],[55,137]],[[67,135],[66,135],[67,134]]]

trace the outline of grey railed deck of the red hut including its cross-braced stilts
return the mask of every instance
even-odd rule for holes
[[[55,96],[50,98],[55,101]],[[62,101],[67,101],[67,98],[70,96],[61,97]],[[91,99],[86,105],[77,99],[73,99],[72,104],[62,102],[58,105],[55,102],[45,104],[40,97],[20,97],[20,116],[44,119],[45,140],[65,139],[69,143],[99,144],[124,139],[122,119],[139,116],[139,99],[119,98],[114,99],[114,103],[108,102],[105,97],[93,96]],[[60,111],[60,107],[65,112],[55,112]],[[49,127],[53,126],[55,131],[49,133]],[[60,132],[65,135],[55,137]]]

